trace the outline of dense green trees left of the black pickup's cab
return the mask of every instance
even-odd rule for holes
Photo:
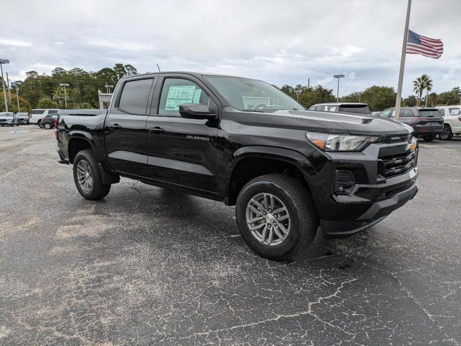
[[[33,108],[99,108],[98,89],[105,92],[105,85],[114,85],[125,76],[137,74],[136,68],[130,64],[115,64],[114,67],[105,67],[97,72],[85,71],[81,68],[65,70],[56,67],[51,75],[39,74],[37,71],[28,71],[26,78],[18,86],[19,104],[21,111],[30,111]],[[1,77],[0,77],[1,82]],[[6,82],[6,81],[5,81]],[[4,83],[6,84],[6,83]],[[69,84],[64,87],[59,84]],[[8,94],[8,110],[17,112],[16,85],[10,86],[11,102]],[[0,92],[0,109],[4,110],[3,93]]]

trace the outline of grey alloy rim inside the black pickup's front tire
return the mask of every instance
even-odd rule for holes
[[[267,246],[283,243],[290,233],[290,214],[285,204],[271,193],[258,193],[246,206],[246,224],[251,235]]]

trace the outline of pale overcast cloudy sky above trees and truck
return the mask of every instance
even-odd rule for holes
[[[406,0],[2,1],[0,58],[11,80],[56,67],[189,70],[321,84],[340,94],[397,86]],[[439,60],[407,55],[403,94],[423,73],[461,86],[461,1],[413,0],[410,28],[440,38]]]

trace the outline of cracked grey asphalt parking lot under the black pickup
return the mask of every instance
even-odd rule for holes
[[[233,207],[122,178],[77,192],[51,130],[0,128],[0,345],[460,345],[461,136],[369,230],[254,255]]]

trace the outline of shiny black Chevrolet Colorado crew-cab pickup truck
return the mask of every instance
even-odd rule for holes
[[[190,72],[122,78],[109,109],[59,111],[60,163],[86,199],[120,176],[236,205],[244,241],[284,260],[381,221],[412,199],[412,129],[308,111],[265,82]]]

